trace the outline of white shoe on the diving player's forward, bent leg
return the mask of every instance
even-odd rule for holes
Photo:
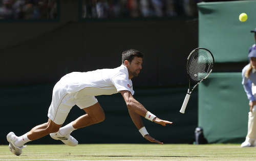
[[[63,143],[65,143],[66,145],[69,145],[69,146],[77,146],[77,144],[78,144],[78,141],[75,138],[73,138],[70,135],[62,136],[59,133],[59,131],[54,132],[54,133],[50,133],[50,136],[51,136],[52,139],[61,140]]]

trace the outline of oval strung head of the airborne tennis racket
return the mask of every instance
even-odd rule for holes
[[[196,49],[187,61],[187,73],[193,81],[201,81],[211,72],[214,59],[210,52],[205,49]]]

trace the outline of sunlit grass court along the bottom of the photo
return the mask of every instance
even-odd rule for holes
[[[0,146],[0,160],[255,160],[256,148],[240,144],[79,144],[28,145],[23,154]]]

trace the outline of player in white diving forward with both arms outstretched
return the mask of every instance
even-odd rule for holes
[[[14,132],[9,132],[7,140],[10,151],[15,155],[20,155],[25,143],[49,134],[53,139],[61,140],[66,145],[76,146],[78,141],[70,136],[73,130],[99,123],[105,119],[104,112],[95,96],[118,92],[123,96],[129,114],[141,135],[150,142],[163,144],[148,134],[141,116],[163,126],[172,124],[172,122],[157,118],[133,97],[131,79],[139,75],[142,69],[142,58],[143,54],[140,51],[130,49],[122,52],[122,65],[117,68],[72,72],[63,76],[53,88],[48,122],[35,126],[20,137],[17,137]],[[86,114],[61,127],[75,104]]]

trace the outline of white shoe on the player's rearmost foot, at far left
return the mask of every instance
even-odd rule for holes
[[[17,136],[14,134],[14,132],[9,132],[6,138],[7,138],[7,141],[9,142],[9,150],[15,155],[22,154],[22,149],[24,148],[24,146],[22,147],[15,146],[14,142],[17,140]]]

